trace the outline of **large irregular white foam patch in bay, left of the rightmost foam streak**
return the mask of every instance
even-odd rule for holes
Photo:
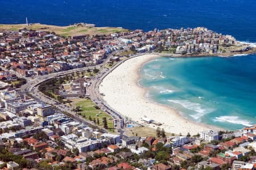
[[[188,100],[168,100],[172,103],[180,104],[182,107],[189,109],[191,111],[195,111],[196,114],[189,114],[189,116],[195,118],[195,120],[200,120],[205,114],[213,112],[214,109],[212,108],[205,108],[203,105],[199,103],[192,103]]]

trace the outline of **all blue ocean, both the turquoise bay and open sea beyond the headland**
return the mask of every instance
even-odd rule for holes
[[[0,0],[0,24],[69,25],[127,29],[207,27],[256,42],[255,0]],[[141,69],[150,99],[185,117],[234,130],[256,123],[256,56],[158,58]]]

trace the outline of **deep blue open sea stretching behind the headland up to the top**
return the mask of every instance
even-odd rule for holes
[[[0,0],[0,23],[43,23],[129,29],[208,27],[256,42],[255,0]]]

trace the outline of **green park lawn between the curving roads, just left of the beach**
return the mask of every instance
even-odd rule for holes
[[[92,120],[95,118],[96,125],[98,125],[97,124],[97,118],[98,118],[100,122],[100,126],[103,127],[102,118],[106,117],[106,120],[108,122],[108,127],[110,128],[108,130],[113,131],[113,118],[109,116],[109,114],[102,111],[101,109],[94,108],[93,106],[96,104],[94,104],[92,100],[81,99],[77,101],[75,104],[76,104],[76,107],[82,106],[80,107],[80,110],[81,110],[80,113],[82,114],[82,116],[84,115],[86,116],[85,117],[86,120],[89,120],[89,117],[92,117]]]

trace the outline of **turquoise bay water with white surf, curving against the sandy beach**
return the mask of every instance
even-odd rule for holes
[[[139,84],[189,120],[229,130],[256,123],[256,55],[161,57],[143,65]]]

